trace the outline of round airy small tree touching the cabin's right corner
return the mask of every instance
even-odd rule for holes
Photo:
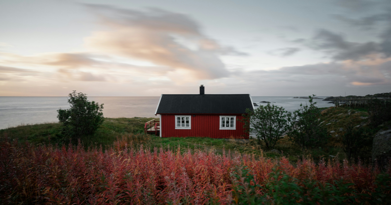
[[[282,135],[288,130],[291,113],[276,105],[261,105],[254,111],[247,109],[242,122],[245,129],[257,136],[258,143],[265,143],[267,149],[272,149]]]

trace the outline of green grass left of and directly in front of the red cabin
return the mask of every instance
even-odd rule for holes
[[[212,138],[159,138],[145,136],[144,125],[153,118],[105,118],[104,123],[98,128],[93,136],[86,136],[81,138],[81,142],[86,146],[100,146],[103,149],[112,146],[117,140],[136,142],[139,146],[143,144],[144,147],[170,147],[176,149],[177,147],[191,148],[191,149],[213,149],[217,153],[222,153],[223,149],[239,151],[241,153],[261,153],[260,148],[251,147],[235,141],[227,141],[225,139]],[[0,138],[8,137],[10,139],[17,139],[19,142],[29,143],[52,143],[65,144],[68,140],[63,139],[61,134],[60,123],[43,123],[33,125],[21,125],[0,130]],[[255,149],[254,149],[255,148]]]

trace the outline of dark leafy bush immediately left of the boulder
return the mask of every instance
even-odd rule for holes
[[[354,128],[352,125],[347,127],[346,133],[342,136],[343,149],[348,159],[353,158],[358,161],[359,155],[368,151],[372,145],[373,137],[365,132],[364,128]]]

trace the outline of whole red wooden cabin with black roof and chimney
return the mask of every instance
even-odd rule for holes
[[[248,139],[242,118],[254,109],[249,94],[207,94],[201,85],[195,95],[162,94],[155,115],[160,115],[160,137]]]

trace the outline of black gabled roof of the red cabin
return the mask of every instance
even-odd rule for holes
[[[254,109],[249,94],[162,94],[155,114],[242,114]]]

